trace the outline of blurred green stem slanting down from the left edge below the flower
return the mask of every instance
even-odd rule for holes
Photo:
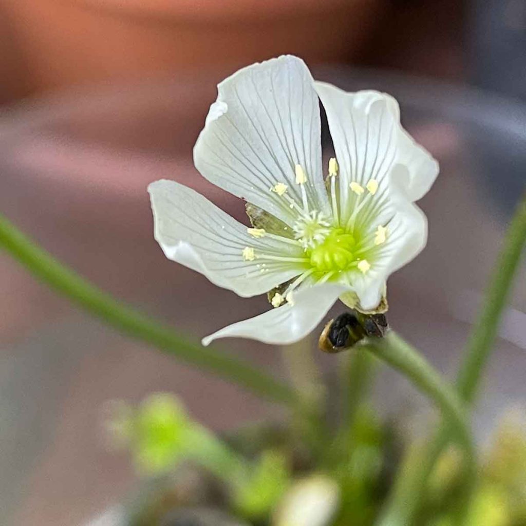
[[[205,349],[198,343],[180,336],[174,329],[115,300],[73,270],[60,264],[2,215],[0,248],[11,254],[46,285],[126,335],[143,340],[190,365],[237,383],[263,398],[287,404],[296,401],[292,389],[249,363],[224,355],[216,349]]]

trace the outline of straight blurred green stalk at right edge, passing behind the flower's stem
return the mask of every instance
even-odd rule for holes
[[[503,246],[485,291],[484,301],[468,339],[466,353],[458,377],[459,396],[472,403],[488,363],[497,336],[502,311],[507,305],[513,278],[517,274],[524,245],[526,244],[526,195],[515,211],[505,235]],[[451,430],[443,424],[418,458],[406,459],[414,469],[400,472],[379,526],[408,526],[414,520],[426,493],[426,483],[431,471],[450,440]]]

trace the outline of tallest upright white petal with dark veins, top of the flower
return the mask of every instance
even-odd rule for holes
[[[319,102],[305,63],[281,56],[240,69],[218,85],[194,147],[211,183],[292,225],[296,214],[270,188],[288,186],[302,203],[295,166],[305,171],[309,205],[330,213],[321,168]]]

